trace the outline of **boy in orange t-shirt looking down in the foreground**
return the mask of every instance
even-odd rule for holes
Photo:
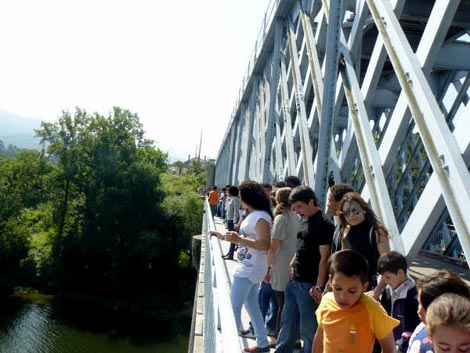
[[[392,330],[400,322],[364,294],[369,285],[364,256],[342,250],[332,255],[329,265],[333,292],[323,296],[316,311],[318,329],[312,352],[369,353],[377,339],[383,353],[395,353]]]

